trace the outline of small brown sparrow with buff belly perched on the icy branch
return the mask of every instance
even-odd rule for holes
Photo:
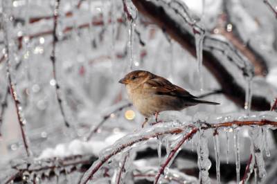
[[[198,100],[185,89],[149,71],[131,71],[118,82],[125,84],[129,100],[145,116],[142,127],[153,115],[158,122],[158,115],[161,111],[181,111],[197,104],[219,104]]]

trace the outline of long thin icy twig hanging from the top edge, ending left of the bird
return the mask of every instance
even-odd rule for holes
[[[56,91],[56,95],[57,95],[57,103],[59,104],[60,107],[60,111],[62,113],[62,118],[64,119],[64,123],[66,125],[66,127],[69,127],[69,122],[67,122],[66,120],[66,115],[64,112],[64,107],[62,105],[62,90],[60,89],[60,84],[59,82],[57,82],[57,70],[56,70],[56,44],[58,42],[57,39],[57,17],[59,15],[59,7],[60,7],[60,0],[56,0],[55,1],[55,9],[54,9],[54,19],[53,19],[53,50],[52,50],[52,54],[51,54],[51,61],[52,61],[52,65],[53,65],[53,78],[55,80],[55,91]]]

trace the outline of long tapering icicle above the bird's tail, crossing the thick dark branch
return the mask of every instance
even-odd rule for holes
[[[199,30],[195,29],[194,32],[195,32],[195,47],[196,47],[196,56],[197,56],[197,62],[198,62],[200,91],[203,91],[202,62],[203,62],[203,41],[205,37],[205,32],[204,30],[201,30],[201,29]]]

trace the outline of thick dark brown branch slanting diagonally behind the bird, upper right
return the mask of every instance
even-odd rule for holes
[[[194,35],[191,35],[191,33],[188,33],[188,30],[180,26],[177,20],[172,19],[162,6],[157,6],[152,1],[147,0],[132,1],[141,14],[145,15],[145,17],[148,17],[152,22],[161,27],[166,33],[168,33],[168,35],[170,35],[170,37],[172,37],[172,39],[175,39],[175,41],[183,48],[188,50],[191,55],[196,56],[195,42],[193,42],[195,39]],[[204,50],[203,64],[222,86],[224,94],[230,100],[235,102],[235,104],[244,107],[244,86],[235,82],[236,76],[230,73],[228,69],[222,65],[222,62],[211,53],[211,51]],[[265,97],[253,95],[251,107],[254,110],[266,111],[270,108],[270,103]]]

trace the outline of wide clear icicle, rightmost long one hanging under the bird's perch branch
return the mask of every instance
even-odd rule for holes
[[[250,131],[251,143],[252,143],[252,154],[256,163],[256,168],[258,169],[258,182],[264,183],[265,176],[267,175],[265,171],[265,161],[262,157],[262,151],[264,149],[263,134],[261,127],[253,127]]]

